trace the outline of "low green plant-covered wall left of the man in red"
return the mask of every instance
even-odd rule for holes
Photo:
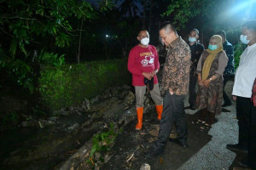
[[[79,105],[111,86],[130,81],[127,60],[87,62],[79,65],[45,67],[38,80],[38,89],[49,109]]]

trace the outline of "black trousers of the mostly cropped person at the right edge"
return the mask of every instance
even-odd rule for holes
[[[252,106],[250,121],[248,161],[249,167],[256,168],[256,106]]]

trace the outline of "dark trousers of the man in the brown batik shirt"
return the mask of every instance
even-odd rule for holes
[[[160,130],[154,148],[163,149],[172,132],[172,123],[175,122],[177,129],[177,139],[187,141],[187,123],[185,121],[184,95],[171,95],[166,91],[164,97],[164,109],[160,121]]]

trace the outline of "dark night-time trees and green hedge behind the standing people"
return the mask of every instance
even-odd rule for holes
[[[161,46],[158,30],[165,20],[171,20],[185,40],[190,29],[198,28],[206,47],[212,34],[227,31],[228,40],[237,44],[237,66],[244,48],[237,43],[240,24],[246,12],[226,16],[224,11],[239,3],[2,0],[0,101],[6,103],[4,96],[15,96],[25,103],[23,114],[45,116],[61,107],[79,105],[84,98],[92,99],[109,86],[131,84],[126,61],[137,44],[137,32],[147,29],[150,43]],[[20,122],[20,110],[9,111],[5,106],[1,124]]]

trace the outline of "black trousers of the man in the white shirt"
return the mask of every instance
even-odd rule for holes
[[[238,127],[239,127],[238,144],[241,145],[241,147],[246,150],[248,149],[251,111],[252,111],[251,99],[237,96],[236,117],[238,119]]]

